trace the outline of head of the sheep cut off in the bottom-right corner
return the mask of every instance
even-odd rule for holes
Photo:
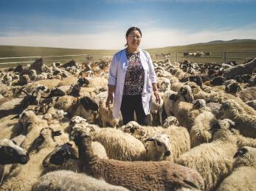
[[[244,146],[234,155],[234,167],[254,166],[256,167],[256,148]]]

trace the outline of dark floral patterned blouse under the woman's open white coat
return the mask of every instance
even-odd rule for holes
[[[139,60],[139,52],[128,54],[128,68],[125,73],[125,84],[123,89],[124,95],[139,95],[142,94],[144,86],[144,69],[142,63]]]

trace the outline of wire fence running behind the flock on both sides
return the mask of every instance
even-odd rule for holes
[[[191,62],[216,62],[223,63],[235,61],[238,64],[246,62],[256,57],[256,51],[176,51],[170,53],[153,53],[150,52],[154,61],[169,59],[170,62],[181,62],[183,59]],[[111,60],[113,55],[110,54],[75,54],[75,55],[49,55],[49,56],[32,56],[32,57],[0,57],[0,68],[15,67],[16,65],[27,65],[35,61],[35,59],[43,57],[46,65],[52,65],[52,62],[69,62],[75,60],[77,62],[97,62],[100,60]]]

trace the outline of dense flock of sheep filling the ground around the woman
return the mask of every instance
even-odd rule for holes
[[[105,107],[110,62],[0,71],[0,190],[256,190],[256,59],[153,62],[151,126]]]

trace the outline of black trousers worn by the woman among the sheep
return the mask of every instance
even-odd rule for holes
[[[131,120],[134,120],[134,112],[136,120],[142,126],[148,126],[149,118],[145,115],[142,107],[142,95],[122,95],[121,104],[122,121],[125,125]]]

